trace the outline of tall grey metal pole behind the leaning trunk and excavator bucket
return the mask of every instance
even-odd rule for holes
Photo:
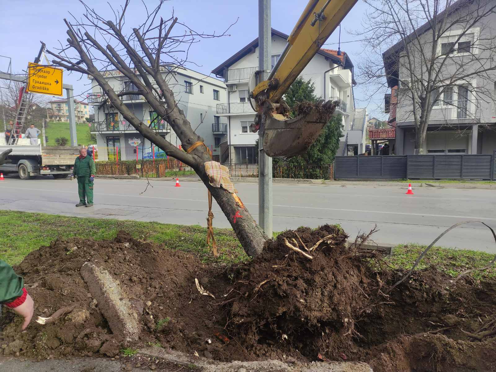
[[[271,70],[270,0],[258,0],[258,82]],[[272,238],[272,158],[263,151],[263,124],[258,129],[258,223]]]

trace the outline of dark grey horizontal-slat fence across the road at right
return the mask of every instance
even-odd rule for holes
[[[496,151],[492,155],[339,156],[334,164],[337,179],[496,180]]]

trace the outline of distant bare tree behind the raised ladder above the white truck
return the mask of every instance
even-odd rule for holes
[[[15,121],[15,115],[19,107],[19,91],[25,86],[24,83],[18,81],[3,81],[0,85],[2,89],[3,112],[5,120]],[[42,120],[47,117],[47,106],[49,98],[43,94],[33,94],[31,96],[31,103],[26,116],[26,121],[22,128],[22,132],[29,127],[30,124],[39,125]]]

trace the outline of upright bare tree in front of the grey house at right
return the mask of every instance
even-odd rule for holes
[[[360,79],[371,96],[399,86],[397,117],[416,128],[415,154],[431,121],[474,123],[494,109],[496,1],[364,1]]]

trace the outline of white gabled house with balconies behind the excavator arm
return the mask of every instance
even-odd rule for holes
[[[272,67],[277,62],[288,35],[272,29]],[[353,98],[353,63],[344,52],[321,49],[305,67],[301,77],[311,79],[315,84],[315,94],[325,100],[339,100],[337,112],[343,117],[343,133],[341,152],[345,144],[346,133],[351,129],[355,117]],[[224,79],[228,87],[226,100],[217,104],[217,115],[227,120],[228,133],[221,146],[222,163],[256,163],[257,150],[255,141],[257,133],[249,131],[254,120],[254,111],[248,100],[248,81],[258,69],[258,38],[239,52],[212,70],[216,76]],[[357,137],[357,136],[355,136]],[[356,144],[348,141],[347,145],[355,145],[359,151],[365,149],[365,130],[363,142]],[[228,151],[230,149],[230,151]],[[341,153],[338,152],[338,155]]]

